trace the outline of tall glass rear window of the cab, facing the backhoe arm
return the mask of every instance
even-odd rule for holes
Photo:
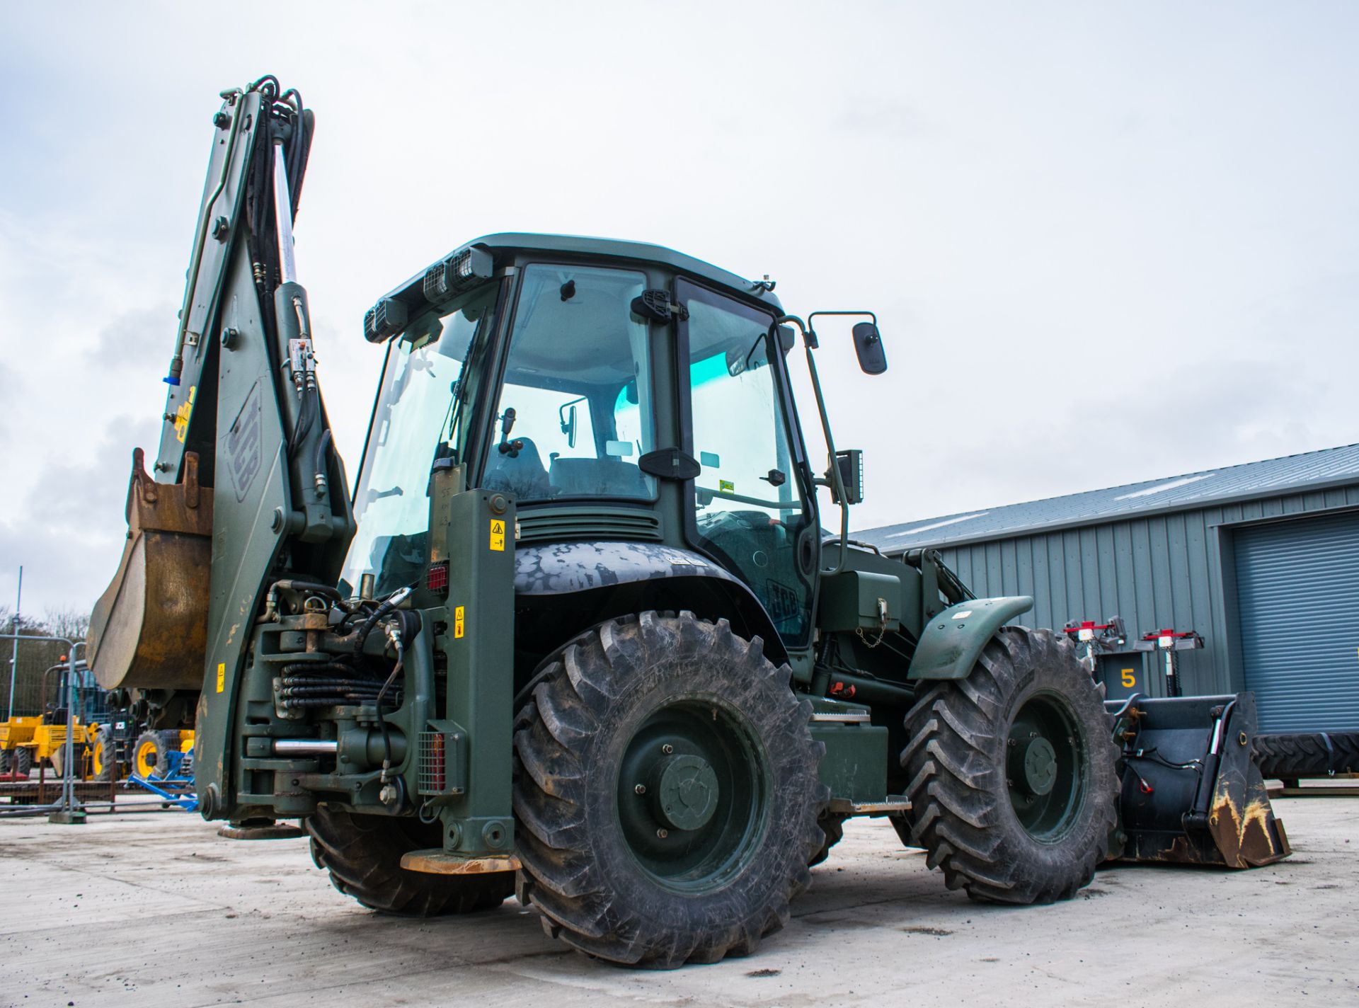
[[[476,374],[463,374],[491,331],[496,284],[457,311],[427,312],[387,345],[378,403],[353,497],[359,531],[349,545],[340,590],[352,594],[364,573],[376,592],[413,583],[428,561],[429,467],[465,455],[465,409]]]

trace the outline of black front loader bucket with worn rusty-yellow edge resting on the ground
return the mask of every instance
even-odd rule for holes
[[[1106,706],[1123,749],[1110,860],[1254,868],[1292,853],[1250,758],[1253,693]]]

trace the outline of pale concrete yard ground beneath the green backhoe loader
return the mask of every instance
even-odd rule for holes
[[[516,902],[375,916],[306,841],[242,842],[183,812],[0,821],[5,1005],[1359,1004],[1359,799],[1275,802],[1294,857],[1250,872],[1125,867],[1004,909],[943,887],[856,821],[747,959],[670,973],[590,962]]]

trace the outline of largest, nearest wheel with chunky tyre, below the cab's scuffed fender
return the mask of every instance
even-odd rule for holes
[[[545,664],[515,721],[519,899],[617,963],[746,955],[811,880],[810,704],[726,619],[643,613]]]

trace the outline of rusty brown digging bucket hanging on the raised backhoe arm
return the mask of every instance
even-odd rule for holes
[[[182,482],[158,484],[133,451],[126,515],[118,573],[90,614],[90,668],[105,689],[202,689],[212,490],[198,456],[185,452]]]

